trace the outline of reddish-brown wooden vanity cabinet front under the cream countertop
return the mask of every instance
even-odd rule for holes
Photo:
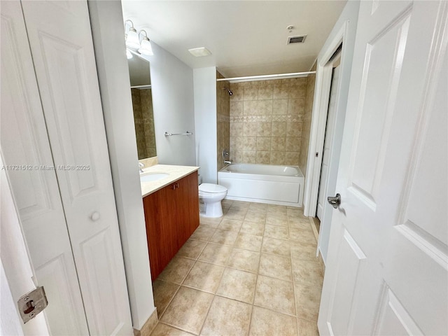
[[[199,226],[197,172],[144,197],[153,281]]]

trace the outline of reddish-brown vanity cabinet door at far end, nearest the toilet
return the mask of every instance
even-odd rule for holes
[[[176,188],[176,232],[179,248],[190,238],[199,226],[199,192],[197,172],[177,181]]]

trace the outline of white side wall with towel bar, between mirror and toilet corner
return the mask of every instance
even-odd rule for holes
[[[150,36],[151,37],[151,36]],[[160,164],[196,165],[193,69],[153,45],[150,62],[155,124],[155,145]],[[193,132],[193,135],[165,137],[165,132]]]

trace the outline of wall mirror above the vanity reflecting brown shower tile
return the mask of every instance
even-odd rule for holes
[[[151,92],[151,74],[148,60],[127,50],[127,64],[131,80],[132,109],[134,111],[135,135],[139,160],[156,156]]]

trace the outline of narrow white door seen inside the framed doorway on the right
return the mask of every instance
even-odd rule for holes
[[[321,179],[319,181],[319,192],[317,197],[317,212],[316,216],[322,220],[323,207],[327,202],[327,179],[328,179],[328,165],[330,160],[330,149],[332,144],[333,133],[335,130],[335,118],[337,107],[337,92],[339,86],[339,66],[335,67],[332,72],[330,99],[328,103],[327,125],[325,127],[325,139],[323,140],[323,155],[321,166]]]

